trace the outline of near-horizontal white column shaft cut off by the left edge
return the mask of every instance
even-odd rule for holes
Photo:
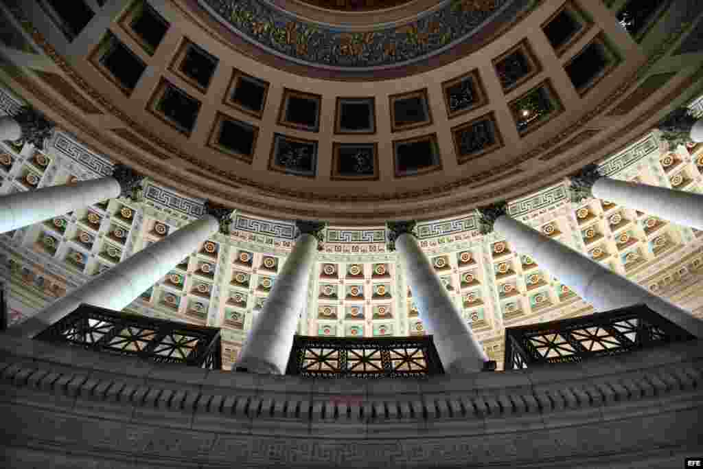
[[[120,183],[107,176],[0,196],[0,233],[116,198],[120,191]]]

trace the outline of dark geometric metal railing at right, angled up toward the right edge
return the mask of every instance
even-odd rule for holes
[[[644,304],[579,318],[505,328],[505,369],[575,363],[695,339]]]

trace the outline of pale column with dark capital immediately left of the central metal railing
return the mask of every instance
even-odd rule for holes
[[[280,274],[273,281],[264,308],[254,319],[235,370],[249,373],[285,374],[298,316],[307,295],[321,224],[298,224],[301,231]]]

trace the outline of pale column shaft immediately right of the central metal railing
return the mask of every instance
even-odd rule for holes
[[[489,361],[488,356],[452,302],[418,241],[411,234],[402,233],[395,240],[395,248],[405,266],[420,318],[432,333],[444,371],[482,371],[484,363]]]

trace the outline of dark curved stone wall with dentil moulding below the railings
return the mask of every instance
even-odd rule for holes
[[[299,380],[0,341],[5,467],[680,467],[703,349],[433,380]],[[99,461],[99,465],[98,465]]]

